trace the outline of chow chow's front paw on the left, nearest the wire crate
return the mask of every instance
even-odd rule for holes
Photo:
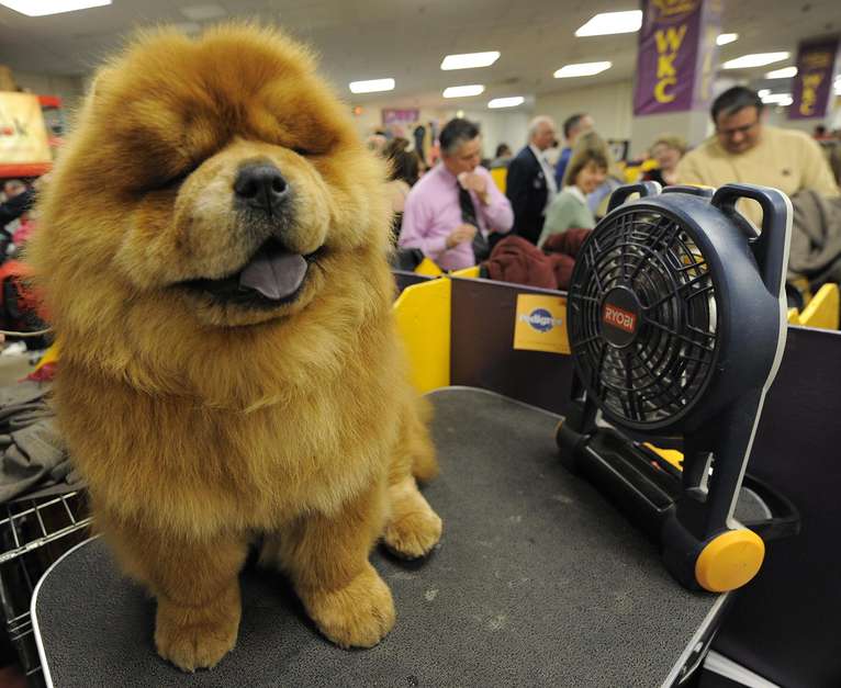
[[[158,599],[155,646],[161,657],[184,672],[211,668],[234,648],[239,616],[238,588],[203,607]]]

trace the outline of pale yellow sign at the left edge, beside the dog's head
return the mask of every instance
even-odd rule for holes
[[[37,95],[0,92],[0,165],[52,159]]]

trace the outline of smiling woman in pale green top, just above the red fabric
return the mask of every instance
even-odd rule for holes
[[[596,226],[596,219],[587,205],[587,194],[604,183],[609,160],[607,144],[598,134],[587,132],[579,137],[563,176],[564,188],[546,213],[543,230],[537,241],[538,248],[542,248],[554,234]]]

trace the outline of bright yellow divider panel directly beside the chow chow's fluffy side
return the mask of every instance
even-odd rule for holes
[[[450,384],[450,291],[447,279],[413,284],[394,302],[397,331],[420,392]]]

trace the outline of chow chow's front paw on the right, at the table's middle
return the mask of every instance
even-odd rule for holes
[[[310,617],[340,647],[373,647],[394,625],[391,590],[373,566],[337,590],[299,590]]]

